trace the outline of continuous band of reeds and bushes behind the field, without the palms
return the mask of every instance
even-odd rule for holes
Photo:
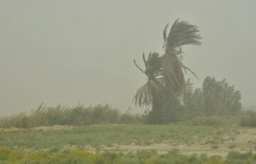
[[[191,125],[220,125],[222,116],[238,116],[241,126],[256,126],[256,112],[242,111],[241,94],[226,80],[217,81],[206,77],[203,87],[193,89],[193,83],[186,81],[185,88],[172,107],[160,113],[147,109],[145,114],[122,114],[110,105],[97,106],[50,106],[41,104],[29,113],[14,114],[0,119],[0,128],[32,128],[36,126],[92,124],[170,124],[190,122]],[[164,120],[162,120],[164,118]],[[164,122],[161,122],[164,121]]]

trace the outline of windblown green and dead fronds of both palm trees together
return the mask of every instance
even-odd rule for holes
[[[137,68],[148,77],[146,84],[140,87],[134,96],[135,105],[140,107],[162,104],[167,95],[176,96],[179,94],[185,86],[183,71],[189,70],[192,72],[181,62],[181,54],[183,53],[181,47],[183,45],[201,44],[198,27],[176,19],[167,35],[168,26],[169,24],[166,25],[163,31],[164,55],[150,53],[148,60],[146,60],[143,54],[142,58],[146,70],[142,70],[134,60]]]

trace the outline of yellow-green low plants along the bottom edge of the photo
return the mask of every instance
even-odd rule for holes
[[[88,153],[82,150],[69,151],[36,151],[34,153],[25,153],[24,151],[11,151],[9,148],[0,148],[1,164],[132,164],[132,163],[155,163],[155,164],[235,164],[235,163],[255,163],[256,156],[252,153],[228,154],[226,160],[219,157],[208,157],[207,155],[181,155],[177,151],[170,151],[165,155],[157,155],[154,151],[140,151],[137,154],[122,153]]]

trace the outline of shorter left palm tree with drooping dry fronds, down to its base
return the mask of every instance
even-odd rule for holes
[[[146,75],[147,82],[142,87],[139,87],[133,100],[136,106],[146,106],[147,110],[145,110],[144,115],[146,121],[151,124],[159,124],[165,97],[161,56],[158,53],[149,53],[149,57],[146,59],[143,53],[142,59],[145,70],[137,65],[136,60],[134,60],[134,64]]]

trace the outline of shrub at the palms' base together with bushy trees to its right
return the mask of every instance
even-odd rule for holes
[[[169,102],[169,106],[171,107],[166,111],[146,110],[146,122],[169,124],[198,117],[239,116],[242,111],[240,92],[226,80],[217,81],[214,77],[206,77],[203,87],[196,89],[193,89],[193,83],[187,80],[185,88],[176,101]],[[161,112],[164,112],[164,115]]]

